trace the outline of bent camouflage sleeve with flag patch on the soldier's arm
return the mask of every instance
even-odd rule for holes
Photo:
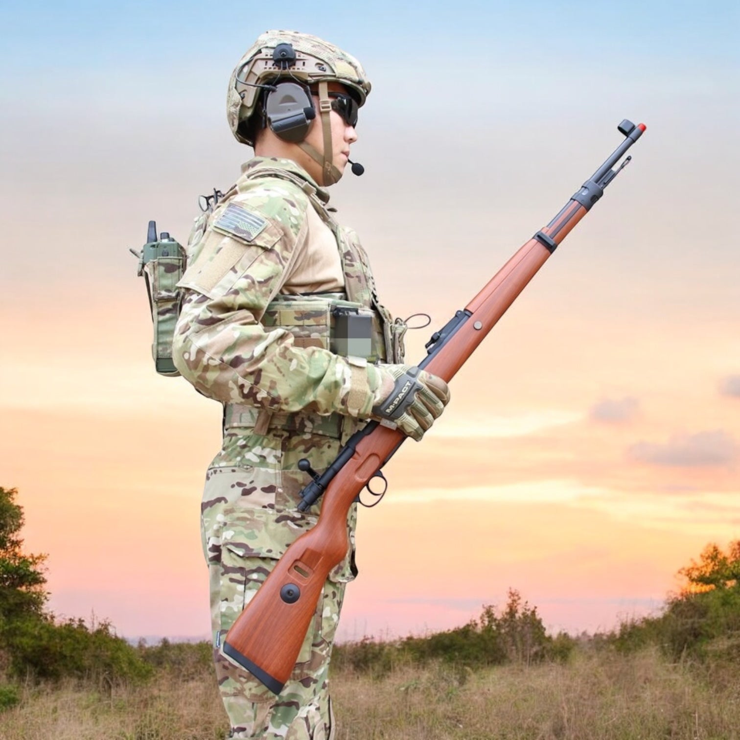
[[[371,365],[320,347],[298,347],[287,329],[260,318],[306,246],[306,209],[290,184],[237,195],[214,212],[192,265],[178,283],[184,301],[173,342],[175,366],[221,403],[271,411],[338,411],[369,417],[383,377]]]

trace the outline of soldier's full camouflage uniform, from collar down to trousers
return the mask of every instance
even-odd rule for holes
[[[224,404],[223,447],[206,474],[203,552],[209,566],[215,663],[238,738],[325,739],[329,655],[349,553],[330,573],[295,670],[275,697],[218,649],[288,546],[316,520],[297,511],[307,457],[323,470],[369,417],[375,378],[366,363],[403,359],[401,322],[377,301],[357,235],[326,210],[326,191],[295,162],[255,158],[189,239],[189,269],[173,346],[178,370]],[[332,306],[371,313],[366,357],[332,349]],[[351,340],[350,340],[351,345]]]

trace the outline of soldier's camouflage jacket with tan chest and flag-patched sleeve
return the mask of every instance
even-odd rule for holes
[[[328,200],[294,162],[254,158],[196,221],[173,359],[198,391],[273,412],[369,417],[375,388],[363,363],[310,341],[311,332],[299,337],[269,310],[281,296],[345,293],[374,313],[374,360],[401,361],[405,326],[377,301],[366,253]]]

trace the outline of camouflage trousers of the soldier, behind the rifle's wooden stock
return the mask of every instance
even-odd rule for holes
[[[232,737],[263,740],[329,740],[329,658],[346,582],[354,578],[350,554],[330,573],[295,669],[279,696],[221,653],[223,639],[277,559],[317,521],[317,507],[297,511],[307,482],[297,460],[323,468],[336,456],[338,440],[316,434],[226,430],[224,446],[206,474],[203,550],[209,568],[216,676]],[[232,464],[224,464],[226,462]],[[233,464],[237,463],[237,464]],[[350,553],[354,551],[354,507]],[[266,636],[269,639],[269,636]]]

